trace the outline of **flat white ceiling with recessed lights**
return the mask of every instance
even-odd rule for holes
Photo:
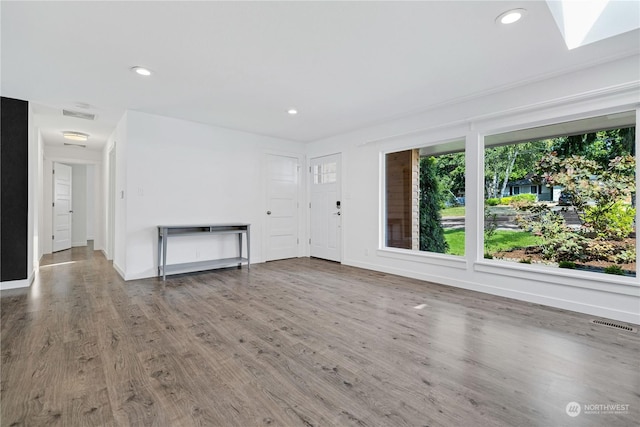
[[[126,109],[307,142],[640,52],[639,30],[568,50],[543,1],[0,7],[2,96],[36,104],[46,143],[77,130],[89,149]],[[511,8],[525,18],[494,22]]]

